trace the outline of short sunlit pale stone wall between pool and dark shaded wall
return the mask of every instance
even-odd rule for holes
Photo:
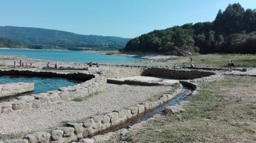
[[[115,68],[104,73],[108,78],[140,76],[145,68]]]

